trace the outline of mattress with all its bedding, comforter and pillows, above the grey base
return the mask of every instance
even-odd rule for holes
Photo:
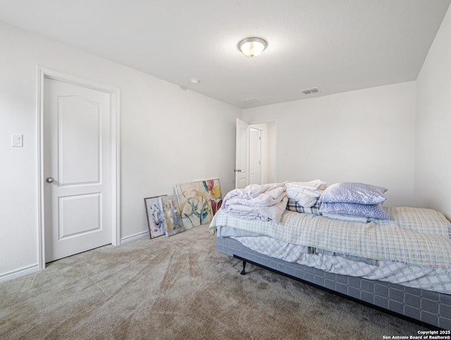
[[[431,209],[383,207],[385,191],[321,180],[235,189],[209,230],[280,260],[450,293],[451,222]]]

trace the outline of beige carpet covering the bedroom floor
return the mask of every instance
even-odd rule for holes
[[[207,226],[0,284],[0,339],[383,339],[422,327],[218,253]]]

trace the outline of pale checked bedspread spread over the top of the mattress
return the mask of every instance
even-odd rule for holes
[[[216,226],[230,226],[335,253],[421,267],[451,268],[450,225],[445,217],[440,223],[442,217],[435,210],[405,207],[388,207],[388,214],[392,221],[362,223],[287,210],[276,224],[239,219],[221,209],[209,229],[214,235]],[[430,221],[436,219],[437,224],[431,226]]]

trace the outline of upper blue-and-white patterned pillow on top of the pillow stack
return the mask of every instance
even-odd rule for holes
[[[364,183],[335,183],[328,186],[319,198],[321,202],[356,203],[359,205],[376,205],[385,201],[383,195],[387,189]]]

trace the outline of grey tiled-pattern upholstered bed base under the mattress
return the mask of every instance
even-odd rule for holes
[[[243,265],[249,262],[273,270],[432,329],[451,329],[451,295],[330,274],[259,254],[229,237],[216,237],[216,249],[243,260]]]

